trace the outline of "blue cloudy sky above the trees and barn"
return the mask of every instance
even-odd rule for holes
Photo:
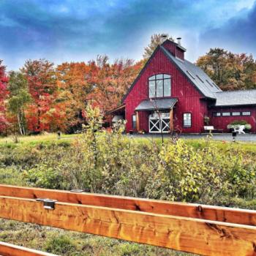
[[[181,37],[185,58],[210,48],[256,58],[256,0],[0,0],[0,59],[142,59],[151,34]]]

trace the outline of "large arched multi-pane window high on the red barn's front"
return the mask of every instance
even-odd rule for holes
[[[170,97],[170,75],[158,74],[148,78],[149,98]]]

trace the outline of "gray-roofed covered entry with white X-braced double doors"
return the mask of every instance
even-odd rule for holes
[[[135,110],[137,112],[148,111],[148,132],[172,132],[173,107],[176,102],[176,98],[147,99],[140,102],[140,105]]]

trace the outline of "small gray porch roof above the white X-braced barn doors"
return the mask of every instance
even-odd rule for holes
[[[146,99],[140,102],[135,110],[169,110],[176,104],[176,98],[170,99]]]

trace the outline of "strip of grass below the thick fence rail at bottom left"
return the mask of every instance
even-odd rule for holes
[[[157,246],[0,219],[0,241],[63,256],[189,256]]]

